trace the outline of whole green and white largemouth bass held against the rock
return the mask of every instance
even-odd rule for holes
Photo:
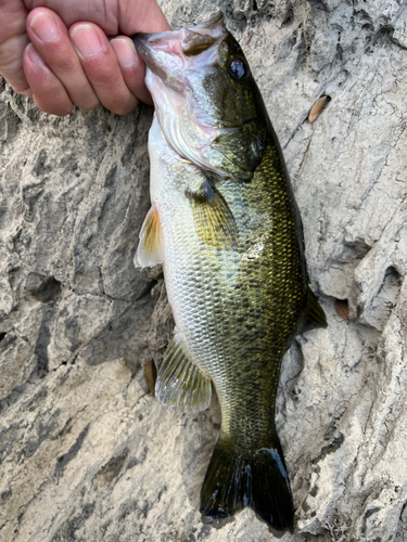
[[[157,400],[208,408],[221,427],[201,490],[203,516],[243,507],[293,532],[293,498],[275,425],[281,361],[295,335],[326,327],[309,288],[303,228],[277,136],[222,13],[135,46],[155,112],[151,209],[136,267],[163,263],[174,338]]]

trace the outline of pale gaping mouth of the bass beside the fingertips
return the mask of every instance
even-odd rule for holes
[[[136,34],[131,39],[145,65],[168,85],[169,78],[173,79],[171,82],[176,78],[182,79],[181,70],[189,57],[209,51],[226,34],[224,14],[219,11],[205,23],[189,28],[160,34]]]

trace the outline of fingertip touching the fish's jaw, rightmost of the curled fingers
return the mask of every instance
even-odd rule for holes
[[[145,66],[140,55],[136,52],[132,40],[125,36],[118,36],[111,40],[111,46],[116,54],[127,88],[139,100],[153,105],[151,94],[144,82]]]

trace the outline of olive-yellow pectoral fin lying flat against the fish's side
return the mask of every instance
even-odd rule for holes
[[[208,245],[219,248],[233,248],[239,235],[234,217],[220,192],[206,180],[195,191],[188,191],[191,199],[193,221],[200,237]]]

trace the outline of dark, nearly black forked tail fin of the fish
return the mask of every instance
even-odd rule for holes
[[[293,532],[293,501],[279,450],[241,450],[220,437],[202,486],[201,513],[219,519],[250,506],[274,529]]]

